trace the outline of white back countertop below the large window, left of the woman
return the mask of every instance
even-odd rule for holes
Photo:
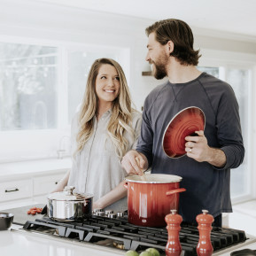
[[[31,175],[52,171],[63,171],[71,168],[70,158],[65,159],[38,159],[0,164],[0,179],[15,175]]]

